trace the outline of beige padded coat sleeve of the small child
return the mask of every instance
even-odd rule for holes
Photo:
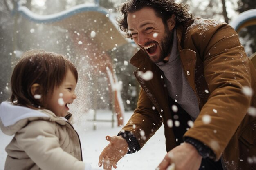
[[[32,121],[17,132],[15,138],[42,170],[85,170],[85,163],[60,147],[55,126],[48,121]]]

